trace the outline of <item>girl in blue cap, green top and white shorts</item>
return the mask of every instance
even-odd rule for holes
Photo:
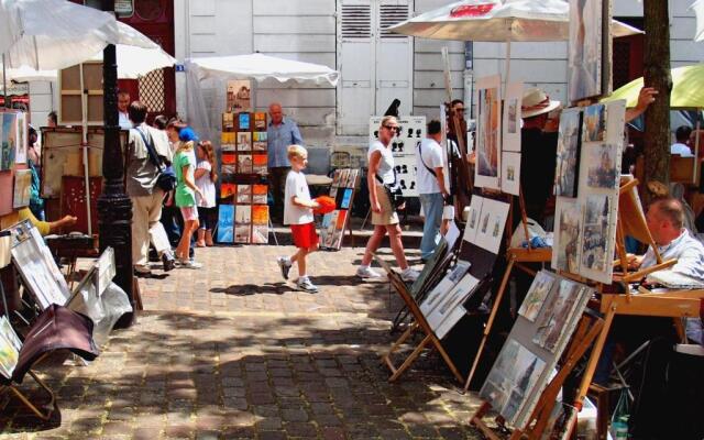
[[[198,229],[198,210],[196,209],[196,195],[204,197],[200,189],[195,184],[194,174],[196,170],[196,155],[194,153],[194,141],[186,141],[184,129],[179,136],[184,142],[178,145],[174,156],[174,173],[176,174],[176,206],[180,208],[184,217],[184,230],[180,241],[176,248],[176,258],[182,267],[200,268],[202,265],[188,257],[190,252],[190,239]]]

